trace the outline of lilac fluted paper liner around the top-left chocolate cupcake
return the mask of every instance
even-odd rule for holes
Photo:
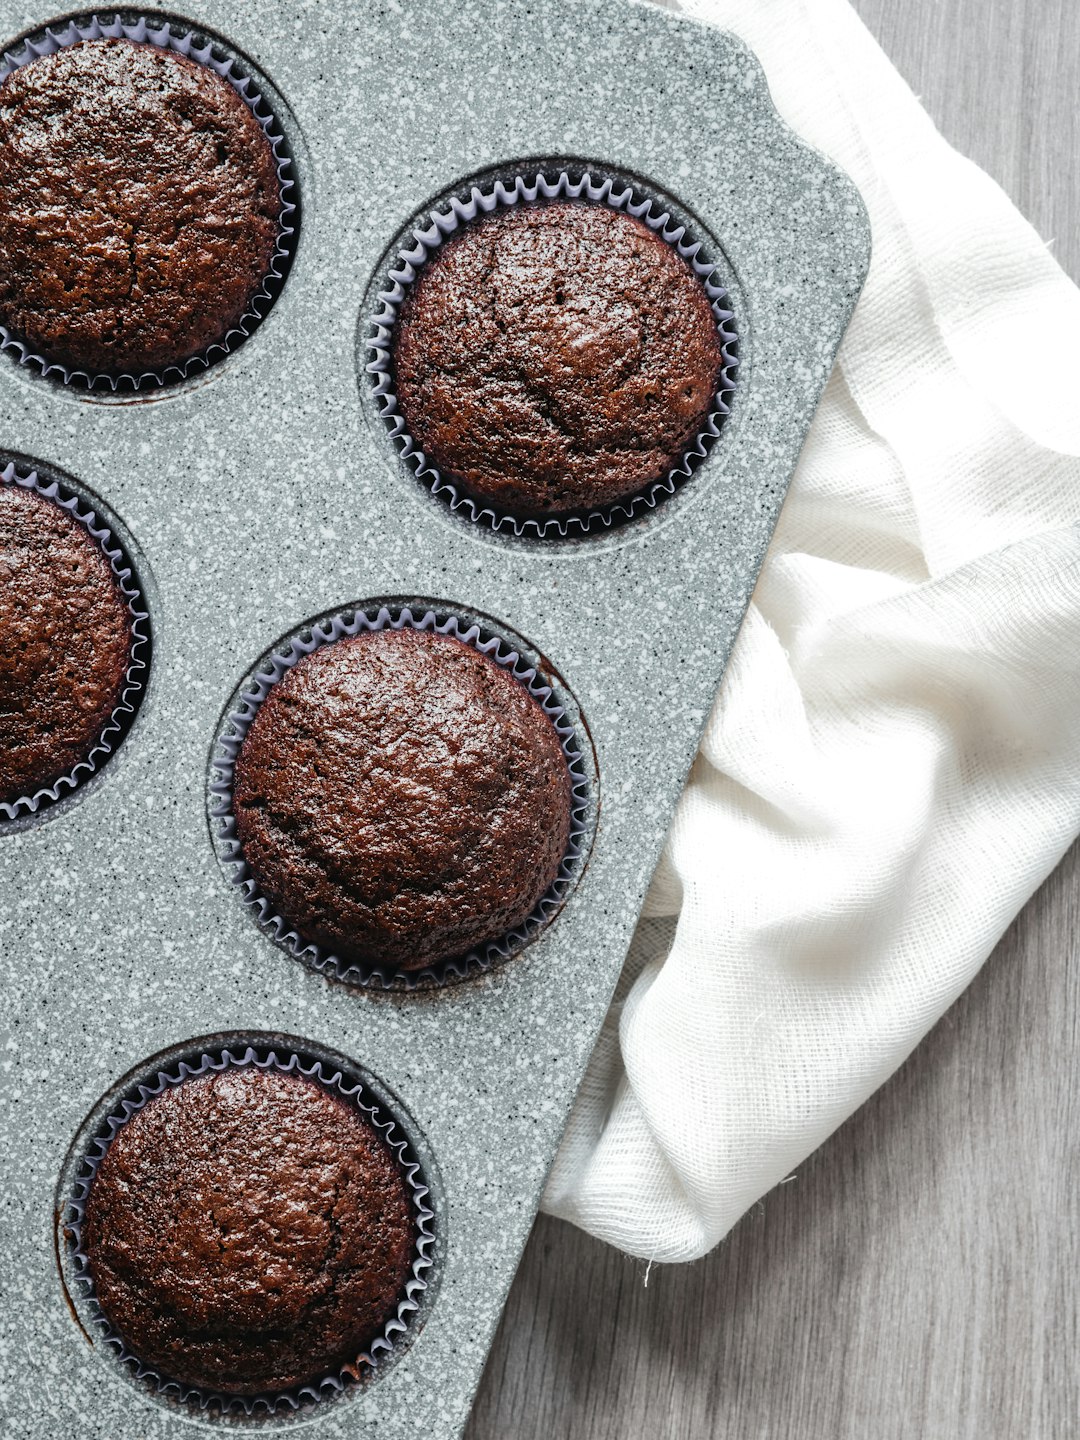
[[[288,268],[295,249],[297,204],[288,197],[288,192],[295,187],[295,180],[292,177],[292,160],[284,148],[285,135],[272,111],[265,105],[262,94],[255,89],[252,78],[235,75],[235,60],[232,58],[223,60],[217,59],[213,53],[212,45],[196,45],[193,35],[174,33],[168,23],[161,24],[158,29],[153,29],[145,17],[131,24],[125,24],[117,16],[109,24],[102,24],[95,14],[86,24],[76,24],[75,20],[71,20],[59,32],[53,32],[46,27],[43,39],[26,40],[20,52],[6,52],[3,55],[0,59],[0,85],[3,85],[7,76],[14,71],[22,69],[23,65],[29,65],[30,60],[40,59],[43,55],[56,55],[58,50],[63,50],[71,45],[78,45],[81,40],[101,39],[127,39],[135,40],[138,45],[156,45],[161,50],[176,50],[177,55],[196,60],[199,65],[204,65],[207,69],[215,71],[222,76],[222,79],[226,79],[248,109],[251,109],[252,115],[255,115],[271,144],[274,160],[278,167],[278,189],[281,193],[278,243],[274,255],[271,256],[269,268],[262,278],[259,289],[256,289],[248,301],[248,308],[243,311],[232,330],[226,331],[220,340],[215,340],[213,344],[207,346],[199,354],[190,356],[187,360],[166,366],[161,370],[143,370],[138,374],[131,372],[122,372],[117,376],[91,374],[88,370],[69,370],[59,361],[49,360],[48,356],[39,354],[29,344],[26,344],[26,341],[13,336],[6,325],[0,325],[0,350],[12,351],[19,364],[36,366],[42,374],[58,377],[63,382],[63,384],[72,384],[78,380],[88,390],[92,390],[95,386],[108,386],[109,389],[117,390],[121,384],[131,386],[138,390],[145,384],[163,386],[176,380],[184,380],[193,372],[209,369],[209,366],[215,361],[222,360],[226,354],[229,354],[229,351],[233,350],[242,340],[246,340],[259,321],[265,318],[266,311],[274,304],[275,298],[272,287],[276,287],[284,281],[285,269]]]

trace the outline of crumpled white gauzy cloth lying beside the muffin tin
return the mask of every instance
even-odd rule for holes
[[[874,259],[544,1197],[655,1260],[887,1079],[1080,829],[1080,292],[845,0],[685,7]]]

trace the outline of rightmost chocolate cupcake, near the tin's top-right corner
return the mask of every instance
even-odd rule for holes
[[[721,384],[710,298],[678,251],[606,204],[518,204],[422,268],[393,338],[406,431],[467,494],[523,516],[662,478]]]

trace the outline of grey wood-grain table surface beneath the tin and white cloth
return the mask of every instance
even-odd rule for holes
[[[1080,278],[1080,0],[857,9]],[[1080,1436],[1079,920],[1080,847],[893,1080],[698,1264],[645,1287],[541,1217],[468,1440]]]

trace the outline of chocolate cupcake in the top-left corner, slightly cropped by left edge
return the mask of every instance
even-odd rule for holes
[[[281,210],[259,121],[174,50],[84,40],[0,85],[0,324],[49,361],[138,376],[223,340]]]

